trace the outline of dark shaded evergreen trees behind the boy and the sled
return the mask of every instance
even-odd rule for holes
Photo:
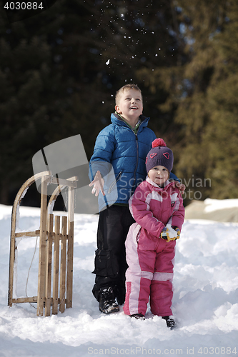
[[[164,92],[151,96],[136,71],[176,62],[170,3],[61,0],[12,24],[0,11],[1,203],[12,203],[44,146],[81,134],[90,157],[125,83],[137,81],[154,129],[162,124]]]

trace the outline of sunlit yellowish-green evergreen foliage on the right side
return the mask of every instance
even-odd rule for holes
[[[148,69],[147,86],[164,90],[174,169],[192,198],[234,198],[237,189],[237,4],[174,1],[182,56],[175,66]],[[184,45],[184,46],[183,46]],[[174,135],[174,130],[177,134]],[[166,131],[165,136],[167,136]],[[194,196],[197,193],[197,196]]]

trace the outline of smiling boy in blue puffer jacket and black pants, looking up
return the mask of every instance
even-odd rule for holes
[[[147,128],[149,118],[142,116],[142,92],[138,86],[127,84],[116,92],[115,110],[111,124],[96,138],[89,163],[91,166],[101,162],[111,164],[118,194],[116,202],[99,213],[92,292],[103,313],[119,311],[119,305],[124,303],[127,270],[124,242],[134,223],[128,201],[147,176],[144,162],[156,139],[154,131]],[[93,186],[92,193],[105,196],[101,172],[97,170],[93,176],[89,184]],[[170,178],[177,180],[174,174]],[[184,185],[180,189],[184,191]]]

